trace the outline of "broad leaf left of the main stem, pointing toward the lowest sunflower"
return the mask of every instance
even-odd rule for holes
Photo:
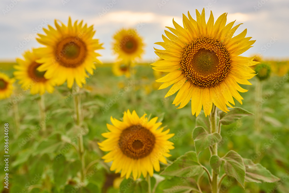
[[[203,171],[202,166],[198,163],[196,152],[189,151],[185,155],[178,157],[170,166],[161,174],[178,177],[192,177]]]

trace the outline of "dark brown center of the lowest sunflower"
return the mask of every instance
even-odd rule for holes
[[[140,124],[133,125],[122,131],[118,146],[127,157],[140,159],[152,152],[155,136]]]

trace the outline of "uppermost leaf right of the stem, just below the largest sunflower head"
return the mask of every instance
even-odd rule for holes
[[[220,111],[220,122],[223,125],[229,125],[237,120],[239,120],[242,117],[253,115],[253,113],[250,113],[249,111],[246,111],[245,109],[242,109],[240,107],[235,108],[228,108],[230,111],[228,113],[225,113],[223,111]]]

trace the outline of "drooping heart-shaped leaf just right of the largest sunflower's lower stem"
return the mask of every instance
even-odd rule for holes
[[[246,169],[243,158],[237,152],[231,150],[222,159],[225,161],[225,173],[228,176],[236,178],[244,188]]]

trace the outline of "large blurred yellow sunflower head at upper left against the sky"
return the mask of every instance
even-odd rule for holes
[[[93,74],[96,69],[94,62],[101,63],[96,57],[100,54],[95,50],[103,49],[98,39],[93,39],[95,31],[93,25],[83,25],[83,21],[72,25],[71,18],[68,25],[54,21],[56,29],[48,25],[48,29],[43,28],[46,35],[38,34],[37,41],[46,47],[38,48],[37,54],[40,59],[37,63],[42,63],[37,70],[46,71],[45,78],[55,78],[57,85],[63,84],[67,80],[67,87],[71,88],[74,80],[79,87],[86,84],[87,72]]]

